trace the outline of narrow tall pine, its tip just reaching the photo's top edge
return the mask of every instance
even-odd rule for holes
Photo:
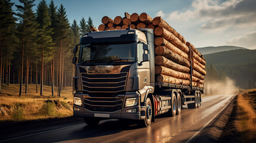
[[[43,84],[44,84],[44,53],[48,51],[47,56],[51,56],[52,51],[52,38],[51,33],[53,29],[50,28],[51,18],[48,12],[47,3],[45,0],[42,0],[38,4],[38,8],[36,10],[36,21],[39,23],[39,45],[41,45],[41,89],[40,95],[43,94]],[[49,52],[50,51],[50,52]]]

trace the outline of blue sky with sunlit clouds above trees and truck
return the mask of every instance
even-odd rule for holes
[[[18,0],[12,2],[19,4]],[[105,15],[114,19],[124,17],[125,12],[147,13],[152,18],[161,16],[196,48],[233,45],[256,49],[256,0],[55,0],[54,4],[63,4],[70,23],[90,16],[98,27]]]

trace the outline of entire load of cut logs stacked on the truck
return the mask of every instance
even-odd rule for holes
[[[104,16],[101,21],[103,24],[98,26],[98,31],[128,29],[129,26],[131,29],[153,29],[157,82],[203,88],[205,58],[161,17],[125,13],[125,17],[116,16],[114,20]]]

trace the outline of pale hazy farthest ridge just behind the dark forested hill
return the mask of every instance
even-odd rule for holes
[[[229,51],[233,49],[246,49],[240,46],[206,46],[202,48],[196,48],[199,52],[201,52],[203,55],[211,54],[214,52],[222,52],[222,51]]]

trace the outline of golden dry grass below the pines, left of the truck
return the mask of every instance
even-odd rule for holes
[[[50,86],[44,86],[43,96],[40,96],[39,92],[40,85],[38,85],[38,93],[36,93],[36,85],[29,85],[27,94],[24,94],[23,88],[22,96],[18,97],[19,85],[11,84],[10,86],[2,86],[0,94],[0,121],[14,120],[12,115],[14,114],[14,107],[17,104],[23,109],[23,120],[67,117],[73,115],[73,95],[71,87],[66,87],[64,91],[61,92],[61,97],[57,97],[57,88],[55,88],[54,96],[52,96]],[[52,116],[45,116],[45,114],[42,114],[42,107],[46,104],[45,101],[47,100],[57,101],[55,104],[60,103],[54,107],[55,111]],[[70,108],[68,108],[68,106],[70,106]]]

